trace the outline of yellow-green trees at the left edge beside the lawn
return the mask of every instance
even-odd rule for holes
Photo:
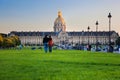
[[[4,37],[2,34],[0,34],[0,48],[11,48],[20,44],[21,41],[18,36]]]

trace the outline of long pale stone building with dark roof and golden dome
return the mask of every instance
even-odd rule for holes
[[[19,36],[23,45],[42,45],[43,37],[45,35],[51,35],[54,44],[108,44],[109,43],[109,31],[78,31],[67,32],[66,23],[62,17],[62,13],[58,12],[58,17],[54,22],[53,32],[17,32],[12,31],[10,35]],[[96,35],[97,34],[97,35]],[[111,41],[115,42],[119,37],[115,31],[110,32]]]

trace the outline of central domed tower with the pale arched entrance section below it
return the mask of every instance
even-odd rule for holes
[[[66,24],[62,17],[61,11],[58,12],[58,17],[54,22],[54,32],[57,33],[57,40],[59,40],[59,44],[65,44],[69,41],[69,36],[66,32]]]

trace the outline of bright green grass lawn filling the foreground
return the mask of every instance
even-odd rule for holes
[[[0,80],[120,80],[120,54],[0,50]]]

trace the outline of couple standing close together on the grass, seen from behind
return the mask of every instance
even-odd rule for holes
[[[51,36],[48,37],[48,35],[45,35],[45,37],[43,38],[43,45],[44,45],[44,51],[46,53],[48,52],[48,48],[49,48],[49,52],[52,52],[53,40]]]

